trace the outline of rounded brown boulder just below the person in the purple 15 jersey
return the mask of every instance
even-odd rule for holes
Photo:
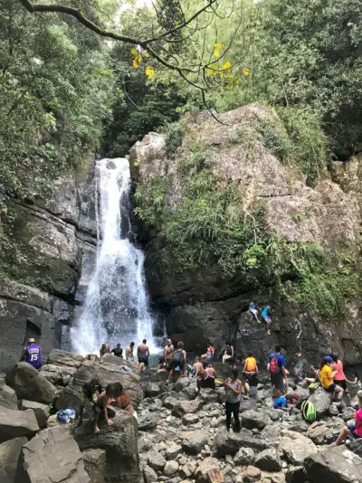
[[[19,399],[50,404],[56,397],[56,387],[25,362],[15,364],[6,374],[5,381]]]

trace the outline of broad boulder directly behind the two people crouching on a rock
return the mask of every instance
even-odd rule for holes
[[[119,357],[110,357],[110,359],[119,359]],[[117,361],[116,361],[117,362]],[[120,383],[124,389],[129,393],[129,397],[135,406],[143,397],[143,391],[140,384],[140,377],[135,373],[128,373],[122,370],[122,367],[117,364],[107,364],[95,361],[84,361],[81,368],[74,374],[71,387],[80,389],[85,383],[89,383],[91,379],[98,377],[102,387],[106,387],[110,383]]]

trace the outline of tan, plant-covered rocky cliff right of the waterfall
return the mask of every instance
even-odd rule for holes
[[[360,362],[362,158],[337,166],[338,184],[320,169],[311,187],[280,156],[267,109],[220,118],[187,118],[173,155],[155,133],[130,153],[148,285],[167,332],[198,353],[207,339],[217,350],[232,339],[242,353],[266,355],[280,341],[294,354],[300,315],[312,360],[333,350]],[[248,313],[252,298],[270,303],[271,336]]]

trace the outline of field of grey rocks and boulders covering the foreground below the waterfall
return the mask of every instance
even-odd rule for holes
[[[225,428],[223,388],[197,393],[195,378],[166,384],[166,375],[152,369],[141,379],[135,370],[122,372],[127,363],[112,356],[98,361],[53,350],[48,363],[40,372],[17,363],[0,384],[2,483],[362,481],[362,445],[356,440],[329,446],[353,420],[354,410],[331,403],[321,389],[313,395],[319,420],[308,424],[295,406],[289,414],[274,410],[271,386],[264,380],[256,397],[243,399],[242,430],[236,433]],[[71,367],[75,371],[64,383]],[[54,372],[58,384],[50,381]],[[116,410],[114,424],[100,422],[96,435],[90,405],[81,427],[77,420],[58,421],[60,407],[79,412],[81,385],[95,375],[103,385],[124,385],[138,421]],[[290,384],[295,393],[309,396],[292,379]]]

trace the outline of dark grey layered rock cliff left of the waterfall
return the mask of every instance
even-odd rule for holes
[[[1,228],[0,367],[6,369],[19,360],[29,336],[47,355],[71,324],[82,259],[96,246],[92,167],[59,179],[37,204],[8,199]]]

